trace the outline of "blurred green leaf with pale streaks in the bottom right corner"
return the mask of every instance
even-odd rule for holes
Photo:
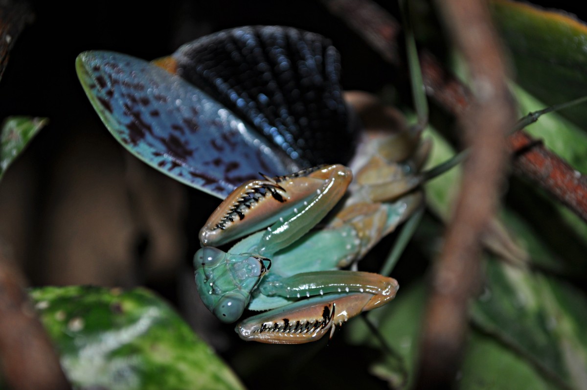
[[[485,291],[471,312],[478,326],[546,378],[587,386],[587,300],[564,281],[488,261]]]

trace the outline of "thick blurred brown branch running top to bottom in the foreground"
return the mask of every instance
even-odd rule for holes
[[[470,158],[443,251],[434,267],[420,345],[416,388],[447,388],[454,382],[465,344],[468,305],[480,281],[482,236],[497,207],[506,163],[505,132],[515,123],[505,62],[487,4],[437,2],[454,42],[468,64],[473,100],[458,117]]]

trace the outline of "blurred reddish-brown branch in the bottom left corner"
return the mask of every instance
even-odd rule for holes
[[[0,367],[14,390],[70,389],[21,273],[0,247]]]

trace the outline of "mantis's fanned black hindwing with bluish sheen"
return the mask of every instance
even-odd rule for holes
[[[357,132],[340,87],[340,58],[316,33],[245,26],[173,54],[177,73],[230,107],[301,165],[347,163]]]

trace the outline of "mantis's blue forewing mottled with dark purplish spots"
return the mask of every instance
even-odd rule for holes
[[[152,63],[92,51],[78,56],[76,68],[114,137],[174,179],[224,198],[259,172],[298,169],[225,106]]]

